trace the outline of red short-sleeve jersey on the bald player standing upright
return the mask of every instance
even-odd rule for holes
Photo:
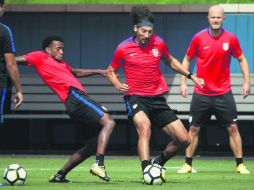
[[[203,88],[195,85],[194,92],[217,96],[231,90],[231,56],[238,58],[242,55],[235,35],[222,29],[220,36],[213,37],[209,29],[204,29],[193,37],[186,54],[191,59],[196,56],[197,77],[205,81]]]

